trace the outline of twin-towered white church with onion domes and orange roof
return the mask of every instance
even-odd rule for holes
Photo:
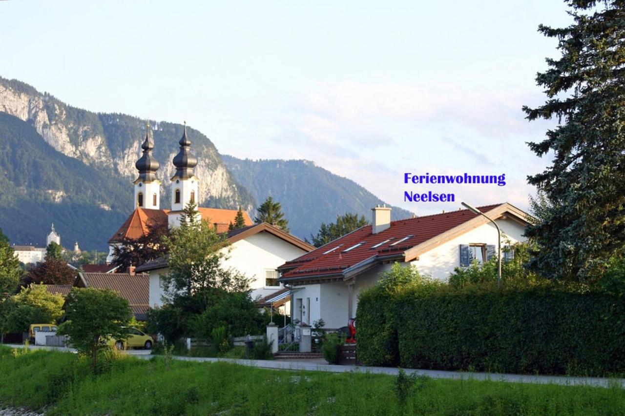
[[[171,209],[161,209],[161,181],[156,177],[159,162],[153,156],[154,139],[149,126],[146,126],[146,139],[141,145],[143,155],[136,162],[139,172],[134,181],[133,206],[136,207],[124,224],[108,240],[109,254],[106,258],[111,263],[115,247],[119,247],[125,239],[138,239],[149,232],[150,224],[167,222],[169,227],[178,227],[184,207],[191,201],[199,201],[198,181],[194,173],[197,158],[191,152],[191,141],[187,137],[186,123],[183,137],[178,142],[180,150],[173,159],[176,173],[171,177]],[[197,219],[209,220],[217,232],[227,232],[228,226],[234,224],[237,210],[197,207]],[[247,212],[243,212],[245,225],[253,222]]]

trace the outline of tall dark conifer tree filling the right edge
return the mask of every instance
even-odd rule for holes
[[[625,250],[625,4],[569,0],[571,26],[539,26],[558,41],[559,59],[537,74],[547,101],[527,119],[556,118],[546,139],[529,144],[553,164],[529,176],[546,197],[526,235],[537,243],[531,267],[546,277],[597,278]]]

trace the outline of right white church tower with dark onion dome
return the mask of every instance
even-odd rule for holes
[[[184,133],[178,142],[180,151],[174,157],[176,173],[171,178],[171,211],[169,212],[169,227],[180,225],[180,215],[182,210],[190,201],[197,204],[199,195],[197,193],[197,177],[193,168],[197,165],[197,158],[191,153],[191,141],[187,137],[187,123],[184,122]],[[197,219],[200,219],[199,213]]]

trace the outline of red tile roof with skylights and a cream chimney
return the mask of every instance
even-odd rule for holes
[[[478,209],[487,212],[499,206],[501,204],[483,206]],[[391,227],[377,234],[371,234],[371,225],[365,225],[281,265],[278,268],[282,272],[280,280],[289,282],[313,277],[315,279],[340,277],[346,269],[364,262],[364,260],[400,257],[407,249],[411,249],[477,216],[467,209],[462,209],[443,214],[392,221]],[[402,240],[404,237],[409,238]],[[347,252],[344,251],[360,242],[364,244]],[[394,243],[397,244],[393,245]],[[374,247],[376,245],[377,247]]]

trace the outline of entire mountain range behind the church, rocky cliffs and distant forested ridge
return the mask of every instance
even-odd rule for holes
[[[15,244],[42,246],[51,222],[64,247],[106,250],[106,241],[133,205],[134,163],[154,132],[161,207],[169,208],[171,163],[181,124],[104,114],[69,106],[21,81],[0,77],[0,228]],[[254,207],[271,195],[282,203],[294,235],[316,233],[321,222],[357,212],[369,218],[382,201],[349,179],[308,161],[249,161],[222,156],[201,132],[187,127],[198,164],[202,206]],[[394,219],[410,212],[394,209]]]

